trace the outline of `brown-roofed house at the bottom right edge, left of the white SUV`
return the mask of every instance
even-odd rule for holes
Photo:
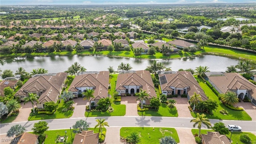
[[[202,134],[202,144],[231,144],[225,134],[219,132],[207,132]]]

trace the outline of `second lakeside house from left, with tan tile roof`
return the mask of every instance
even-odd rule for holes
[[[71,91],[77,98],[87,89],[94,90],[94,98],[91,98],[90,101],[96,105],[98,100],[108,97],[108,80],[108,71],[82,72],[74,78],[68,91]]]

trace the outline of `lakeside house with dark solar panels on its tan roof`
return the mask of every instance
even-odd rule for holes
[[[204,90],[200,87],[191,72],[178,71],[178,72],[164,72],[159,74],[159,82],[162,94],[165,95],[182,95],[186,94],[188,99],[196,94],[200,94],[202,100],[207,100]]]

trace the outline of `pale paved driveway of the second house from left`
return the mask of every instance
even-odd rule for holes
[[[75,104],[73,104],[75,109],[71,118],[85,118],[86,105],[89,105],[88,100],[83,100],[83,98],[73,98],[73,100],[75,102]]]

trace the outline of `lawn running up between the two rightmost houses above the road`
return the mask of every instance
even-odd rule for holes
[[[244,110],[231,110],[228,107],[224,106],[224,104],[222,104],[222,102],[220,102],[220,100],[218,99],[218,96],[216,96],[216,94],[212,92],[212,90],[207,86],[207,84],[204,83],[202,79],[197,78],[197,76],[195,76],[195,78],[199,82],[199,85],[204,90],[204,93],[206,94],[206,96],[208,96],[209,99],[215,100],[218,104],[217,110],[215,112],[213,111],[212,115],[206,114],[207,118],[219,119],[219,120],[252,120],[252,118]],[[221,114],[220,110],[222,109],[227,110],[228,114],[227,115]],[[196,118],[197,112],[190,112],[190,113],[194,118]]]

